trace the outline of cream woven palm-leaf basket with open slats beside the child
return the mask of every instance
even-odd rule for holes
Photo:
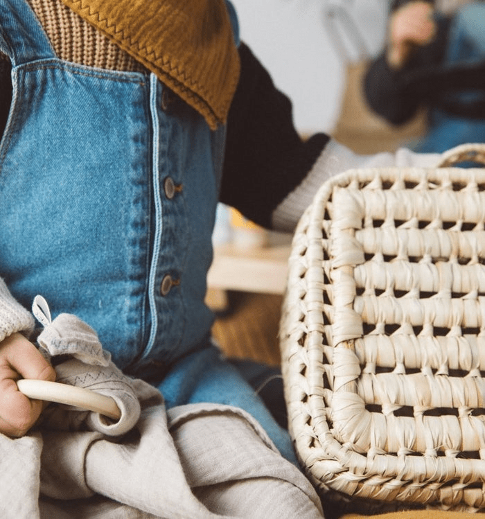
[[[485,146],[351,170],[294,235],[290,433],[322,495],[485,507]]]

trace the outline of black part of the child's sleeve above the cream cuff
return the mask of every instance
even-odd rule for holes
[[[290,100],[245,44],[241,72],[227,122],[220,201],[249,220],[270,227],[272,211],[307,175],[329,140],[302,141]]]

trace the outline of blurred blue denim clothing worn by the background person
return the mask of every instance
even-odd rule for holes
[[[448,37],[444,65],[474,64],[485,60],[485,5],[472,3],[457,10]],[[461,103],[485,102],[484,91],[463,91],[449,94]],[[485,121],[450,114],[442,109],[430,111],[430,130],[416,152],[443,152],[463,143],[485,142]],[[476,167],[476,164],[473,164]]]

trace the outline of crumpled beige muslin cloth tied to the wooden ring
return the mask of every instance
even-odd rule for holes
[[[209,403],[167,412],[157,389],[113,367],[71,317],[46,317],[42,349],[68,355],[60,378],[117,398],[120,421],[134,425],[114,437],[116,424],[96,413],[51,404],[35,432],[0,434],[2,519],[323,517],[310,482],[247,412]]]

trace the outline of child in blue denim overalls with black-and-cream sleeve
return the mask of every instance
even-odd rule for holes
[[[240,79],[227,131],[144,64],[114,70],[60,57],[42,4],[71,19],[60,0],[0,3],[13,85],[0,147],[1,432],[25,434],[39,416],[15,378],[54,377],[25,338],[39,293],[54,314],[96,329],[118,367],[158,387],[167,407],[243,407],[296,462],[288,432],[211,342],[204,295],[215,206],[291,230],[330,175],[436,157],[361,157],[324,134],[302,143],[287,98],[239,44],[229,3]]]

